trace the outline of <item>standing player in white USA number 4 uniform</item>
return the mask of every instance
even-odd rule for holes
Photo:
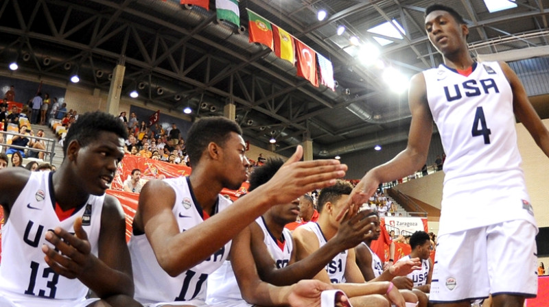
[[[515,116],[547,156],[549,132],[507,64],[471,58],[469,29],[455,10],[431,5],[425,30],[444,64],[412,78],[408,147],[366,173],[349,204],[362,204],[379,183],[425,164],[434,120],[447,158],[430,300],[469,306],[492,293],[493,306],[522,306],[525,297],[537,293],[537,228],[520,167]]]

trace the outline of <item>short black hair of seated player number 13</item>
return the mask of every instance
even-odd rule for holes
[[[128,131],[126,131],[124,123],[115,116],[100,111],[87,112],[78,117],[78,121],[71,125],[67,136],[65,136],[63,144],[65,157],[72,140],[78,140],[78,143],[85,147],[95,140],[100,132],[113,132],[124,140],[128,138]]]

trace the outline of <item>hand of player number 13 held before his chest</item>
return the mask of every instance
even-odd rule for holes
[[[74,221],[74,231],[75,234],[71,234],[59,227],[53,232],[48,231],[45,234],[46,240],[54,245],[55,249],[47,245],[42,246],[42,251],[46,254],[44,259],[49,267],[70,279],[78,278],[92,266],[95,259],[91,254],[88,235],[82,228],[81,217]]]

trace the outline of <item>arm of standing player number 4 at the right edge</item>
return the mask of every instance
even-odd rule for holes
[[[530,132],[539,148],[549,157],[549,131],[547,127],[541,122],[532,103],[528,100],[526,90],[524,90],[522,82],[520,82],[513,69],[505,62],[500,62],[500,66],[509,84],[511,84],[511,90],[513,90],[513,112],[515,112],[515,116]]]

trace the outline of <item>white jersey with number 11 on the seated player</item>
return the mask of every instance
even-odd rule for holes
[[[202,208],[191,191],[188,177],[166,179],[164,182],[169,184],[176,193],[176,203],[172,212],[180,232],[202,223],[204,221]],[[224,210],[230,204],[231,201],[219,195],[217,212]],[[208,275],[223,264],[231,249],[231,241],[229,241],[207,260],[176,277],[171,277],[156,261],[154,251],[145,234],[134,234],[128,245],[132,256],[135,299],[141,303],[205,300]]]

